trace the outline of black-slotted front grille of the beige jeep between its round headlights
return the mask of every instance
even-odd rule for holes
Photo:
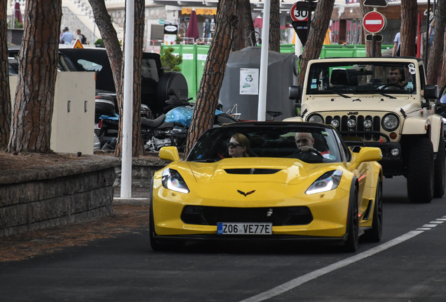
[[[366,129],[364,127],[364,120],[372,120],[372,127],[370,129]],[[381,117],[372,115],[339,115],[331,116],[327,115],[325,117],[325,124],[331,124],[332,120],[339,120],[339,127],[336,127],[337,131],[342,132],[342,134],[346,134],[348,131],[381,131]],[[349,120],[354,120],[356,122],[355,127],[348,127],[347,122]],[[378,134],[353,134],[351,136],[360,136],[367,141],[379,141],[380,136]]]

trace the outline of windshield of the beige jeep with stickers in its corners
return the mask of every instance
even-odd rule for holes
[[[412,62],[320,62],[310,66],[306,94],[414,94],[417,73]]]

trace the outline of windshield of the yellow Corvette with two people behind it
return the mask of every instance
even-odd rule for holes
[[[305,143],[300,142],[304,139],[297,133],[307,141],[306,152],[300,152],[301,144]],[[231,149],[246,148],[248,157],[295,158],[315,164],[342,161],[335,136],[332,129],[323,127],[219,127],[206,131],[198,139],[187,160],[219,161],[233,157]]]

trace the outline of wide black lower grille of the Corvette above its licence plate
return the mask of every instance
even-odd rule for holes
[[[272,222],[273,226],[309,224],[313,215],[306,206],[271,208],[225,208],[185,206],[181,220],[186,224],[217,225],[217,222]]]

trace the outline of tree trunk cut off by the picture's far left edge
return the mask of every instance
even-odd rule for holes
[[[0,149],[6,148],[11,127],[11,93],[8,69],[8,22],[6,21],[7,0],[0,0]]]

